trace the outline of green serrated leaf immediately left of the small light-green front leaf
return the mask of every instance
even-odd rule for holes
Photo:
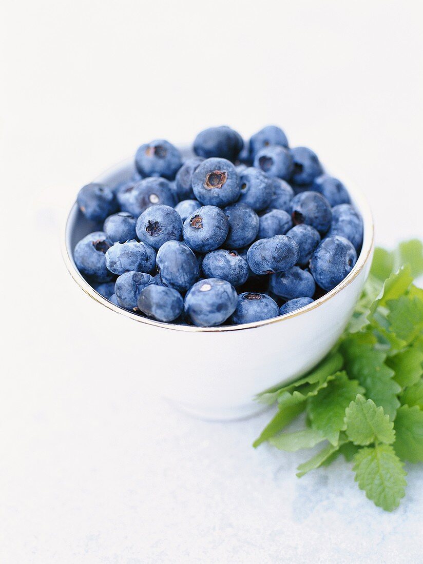
[[[307,400],[307,414],[313,429],[320,431],[333,445],[339,431],[345,429],[345,409],[356,395],[364,390],[356,380],[349,380],[346,372],[338,372],[334,380]]]

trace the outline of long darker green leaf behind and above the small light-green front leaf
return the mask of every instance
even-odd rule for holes
[[[375,348],[371,343],[373,338],[371,334],[357,334],[342,343],[345,368],[348,376],[364,387],[365,396],[383,407],[393,421],[400,405],[397,395],[401,387],[393,380],[394,371],[385,364],[386,352]]]

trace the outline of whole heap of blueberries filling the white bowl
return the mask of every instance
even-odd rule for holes
[[[279,127],[245,143],[228,126],[193,157],[159,139],[138,148],[118,186],[88,184],[77,203],[99,223],[75,263],[116,306],[177,324],[274,318],[307,306],[354,267],[363,222],[346,188]]]

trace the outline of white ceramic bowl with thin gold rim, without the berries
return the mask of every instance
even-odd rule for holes
[[[133,172],[130,159],[94,181],[116,184],[129,179]],[[73,204],[64,232],[64,260],[87,296],[111,310],[110,315],[99,316],[99,324],[104,324],[107,317],[108,330],[116,334],[117,320],[112,312],[126,318],[125,323],[119,323],[120,358],[137,356],[139,390],[134,392],[142,391],[143,378],[153,374],[158,392],[192,415],[211,420],[242,418],[263,409],[253,402],[255,394],[278,382],[292,381],[319,362],[345,328],[372,261],[372,214],[361,192],[352,184],[348,184],[348,190],[363,216],[364,242],[346,279],[322,298],[291,314],[233,327],[160,323],[116,307],[100,296],[73,261],[77,241],[96,230],[98,224],[85,219]],[[97,358],[97,362],[102,373],[112,370],[107,355],[103,360]]]

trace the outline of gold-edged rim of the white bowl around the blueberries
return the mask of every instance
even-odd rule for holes
[[[105,170],[102,174],[98,175],[94,180],[91,182],[103,182],[106,183],[106,177],[110,177],[113,174],[118,174],[119,172],[123,171],[125,168],[127,169],[128,166],[133,166],[133,158],[127,158],[123,161],[118,162],[116,165],[111,166],[107,170]],[[189,333],[224,333],[227,331],[245,331],[246,329],[255,329],[259,327],[264,327],[265,325],[272,325],[276,323],[281,323],[283,321],[288,321],[289,319],[296,318],[300,315],[307,314],[307,312],[317,309],[318,307],[322,306],[325,302],[329,301],[330,299],[334,298],[342,292],[345,288],[347,288],[352,281],[356,279],[356,277],[363,271],[363,268],[367,264],[370,255],[372,254],[373,245],[374,245],[374,222],[373,222],[373,214],[372,210],[370,209],[369,203],[367,198],[364,196],[364,193],[357,188],[354,183],[347,183],[348,192],[350,192],[352,196],[353,203],[357,206],[361,213],[361,217],[363,218],[363,226],[364,226],[364,238],[363,238],[363,245],[361,247],[361,252],[359,257],[357,257],[357,262],[352,268],[351,272],[339,283],[335,288],[330,290],[330,292],[326,293],[324,296],[316,299],[314,302],[310,303],[307,306],[301,307],[298,310],[295,310],[289,314],[285,315],[278,315],[277,317],[271,319],[263,319],[261,321],[254,321],[252,323],[243,323],[240,325],[219,325],[218,327],[197,327],[197,325],[176,325],[172,323],[164,323],[163,321],[156,321],[155,319],[149,319],[142,317],[141,315],[137,315],[134,312],[124,310],[121,307],[115,306],[114,303],[108,301],[108,299],[104,298],[94,290],[93,287],[82,277],[79,270],[75,265],[75,261],[73,260],[73,252],[70,245],[71,239],[71,217],[73,213],[75,213],[77,208],[76,200],[73,200],[73,205],[71,205],[71,209],[69,210],[67,217],[64,221],[64,229],[62,231],[62,255],[64,262],[66,264],[67,270],[69,274],[72,276],[73,280],[79,285],[79,287],[92,299],[96,302],[100,303],[101,305],[107,307],[108,309],[114,311],[117,314],[124,315],[125,317],[132,319],[133,321],[137,321],[138,323],[143,323],[146,325],[153,325],[155,327],[160,327],[163,329],[168,329],[169,331],[185,331]]]

